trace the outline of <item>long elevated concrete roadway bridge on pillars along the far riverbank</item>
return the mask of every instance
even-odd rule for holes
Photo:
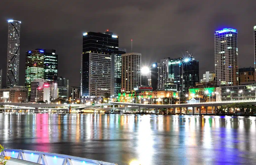
[[[220,102],[202,102],[202,103],[191,103],[191,104],[136,104],[136,103],[126,103],[126,102],[109,102],[104,104],[95,104],[95,105],[86,105],[86,104],[54,104],[54,103],[0,103],[0,105],[3,105],[4,107],[13,107],[17,109],[32,109],[32,112],[35,113],[41,112],[42,109],[57,109],[59,111],[67,111],[71,112],[71,109],[88,109],[88,108],[94,108],[99,107],[99,109],[102,109],[102,106],[109,106],[108,108],[103,109],[124,109],[124,113],[126,113],[127,109],[131,110],[131,113],[133,109],[138,109],[138,112],[141,113],[141,109],[148,109],[148,112],[150,112],[150,109],[155,110],[155,114],[157,114],[158,109],[163,108],[171,108],[173,109],[173,114],[176,114],[179,111],[179,114],[188,114],[188,109],[192,110],[192,114],[194,115],[197,110],[199,110],[199,114],[201,114],[201,109],[206,109],[206,114],[216,114],[216,108],[221,105],[228,105],[232,103],[241,103],[247,105],[256,105],[256,100],[244,100],[244,101],[220,101]],[[119,107],[115,107],[115,105],[118,105]],[[208,113],[209,107],[211,108],[212,113]],[[5,108],[2,108],[3,111]],[[8,108],[10,109],[10,108]],[[98,108],[97,108],[98,109]],[[168,111],[166,111],[168,114]]]

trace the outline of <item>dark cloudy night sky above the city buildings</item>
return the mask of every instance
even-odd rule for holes
[[[0,67],[6,83],[7,20],[22,21],[19,83],[25,80],[25,52],[56,49],[58,76],[79,86],[82,33],[109,29],[119,36],[119,47],[142,53],[142,64],[165,57],[199,60],[200,78],[214,70],[214,32],[238,29],[239,68],[254,67],[255,0],[1,0]]]

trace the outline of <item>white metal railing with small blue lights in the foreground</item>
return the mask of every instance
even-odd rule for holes
[[[90,165],[117,165],[116,163],[108,163],[99,160],[92,160],[86,158],[80,158],[70,155],[63,155],[57,153],[40,152],[40,151],[30,151],[21,149],[4,149],[1,152],[1,156],[10,156],[10,163],[15,162],[16,159],[23,160],[20,163],[34,165],[34,164],[44,164],[44,165],[73,165],[73,164],[90,164]],[[15,158],[15,159],[12,159]],[[16,160],[17,162],[17,160]],[[34,164],[33,164],[34,163]],[[15,163],[14,163],[15,164]]]

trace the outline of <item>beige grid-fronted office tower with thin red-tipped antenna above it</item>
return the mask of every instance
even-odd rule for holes
[[[122,92],[141,86],[141,53],[122,54]]]

